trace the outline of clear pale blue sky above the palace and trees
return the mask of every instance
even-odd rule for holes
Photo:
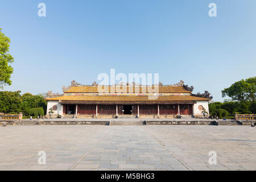
[[[211,2],[217,17],[208,16]],[[222,89],[255,76],[255,19],[255,0],[0,1],[15,58],[4,90],[61,93],[72,80],[91,84],[115,68],[159,73],[163,84],[184,80],[222,101]]]

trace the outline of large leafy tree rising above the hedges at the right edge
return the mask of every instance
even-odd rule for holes
[[[232,84],[229,88],[222,90],[222,97],[228,96],[233,101],[255,101],[256,77],[240,80]]]

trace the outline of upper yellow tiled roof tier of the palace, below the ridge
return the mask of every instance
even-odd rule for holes
[[[109,92],[111,90],[111,87],[108,86]],[[115,86],[116,88],[119,87],[120,89],[127,90],[127,93],[129,92],[129,88],[133,88],[133,93],[142,93],[142,87],[146,86]],[[137,92],[137,88],[139,88],[139,92]],[[104,86],[102,86],[102,89],[104,89]],[[135,92],[136,89],[136,92]],[[154,88],[153,88],[154,89]],[[117,91],[117,90],[115,90]],[[97,86],[72,86],[69,90],[65,91],[64,93],[98,93],[98,87]],[[144,90],[143,90],[144,93]],[[148,93],[148,92],[146,92]],[[185,89],[183,86],[159,86],[158,93],[191,93],[187,89]]]

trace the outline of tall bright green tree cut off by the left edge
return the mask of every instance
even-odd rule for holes
[[[9,65],[14,62],[13,56],[9,53],[10,38],[2,33],[0,28],[0,88],[3,89],[4,85],[11,85],[11,74],[13,68]]]

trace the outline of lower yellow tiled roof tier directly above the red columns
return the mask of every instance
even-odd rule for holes
[[[158,96],[149,100],[148,96],[61,96],[47,98],[52,101],[209,101],[209,98],[196,96]]]

